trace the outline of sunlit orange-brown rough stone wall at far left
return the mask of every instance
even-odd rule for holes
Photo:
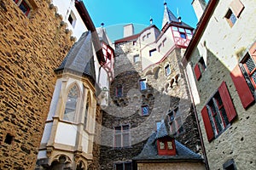
[[[50,1],[26,17],[0,1],[0,169],[33,169],[55,88],[55,73],[73,44]]]

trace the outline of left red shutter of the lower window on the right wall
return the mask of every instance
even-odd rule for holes
[[[204,124],[206,127],[207,139],[209,142],[211,142],[212,139],[214,139],[214,133],[213,133],[212,125],[211,125],[210,118],[208,115],[207,106],[204,106],[204,108],[201,110],[201,116],[203,118],[203,121],[204,121]]]

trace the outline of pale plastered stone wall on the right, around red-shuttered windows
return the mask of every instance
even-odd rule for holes
[[[200,104],[196,105],[196,109],[210,169],[223,169],[224,163],[231,159],[234,159],[237,169],[255,169],[256,160],[252,150],[256,150],[256,135],[253,133],[256,129],[256,105],[251,105],[247,110],[243,108],[230,77],[230,71],[234,69],[247,52],[247,48],[256,40],[255,36],[250,36],[256,33],[253,29],[255,27],[253,20],[256,14],[255,8],[253,8],[255,2],[241,0],[245,8],[235,25],[230,27],[224,15],[230,8],[231,2],[232,0],[227,0],[217,3],[189,62],[194,69],[195,64],[202,56],[207,65],[207,69],[201,73],[201,79],[199,81],[195,79],[195,82],[200,95]],[[245,30],[241,30],[245,25]],[[237,116],[230,126],[211,142],[208,142],[201,110],[207,105],[209,99],[212,99],[222,82],[226,82]]]

